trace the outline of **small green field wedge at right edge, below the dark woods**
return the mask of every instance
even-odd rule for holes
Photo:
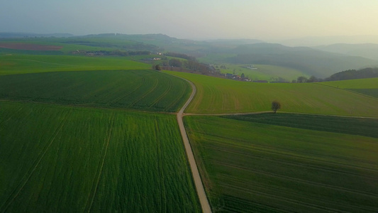
[[[335,82],[321,82],[320,84],[330,87],[337,87],[340,89],[348,89],[353,92],[359,92],[378,98],[378,77]]]

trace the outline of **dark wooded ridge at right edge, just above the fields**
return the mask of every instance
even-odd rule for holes
[[[330,77],[326,78],[326,81],[340,81],[340,80],[352,80],[360,78],[370,78],[378,77],[378,67],[375,68],[365,68],[362,70],[345,70],[342,72],[335,73]]]

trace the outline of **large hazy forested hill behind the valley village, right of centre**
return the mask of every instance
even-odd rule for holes
[[[316,77],[328,77],[340,70],[378,65],[378,61],[367,58],[329,53],[313,48],[291,48],[274,43],[240,45],[238,48],[228,50],[228,53],[236,55],[226,59],[231,63],[291,67]]]

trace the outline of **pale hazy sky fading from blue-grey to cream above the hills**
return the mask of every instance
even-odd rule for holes
[[[176,38],[378,35],[377,0],[1,0],[0,32]]]

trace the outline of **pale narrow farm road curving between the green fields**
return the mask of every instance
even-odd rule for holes
[[[181,77],[180,77],[181,78]],[[186,80],[182,78],[183,80]],[[196,94],[196,86],[189,80],[186,80],[191,84],[191,88],[193,91],[191,92],[191,95],[187,102],[184,104],[184,107],[180,109],[180,111],[177,113],[177,123],[179,123],[179,129],[182,136],[182,141],[184,141],[185,151],[187,152],[189,165],[191,168],[191,173],[193,175],[194,185],[196,185],[196,191],[199,197],[199,202],[201,203],[202,212],[208,213],[211,212],[209,200],[207,200],[206,193],[204,190],[204,185],[202,185],[201,177],[199,176],[199,171],[196,165],[196,160],[194,159],[193,152],[191,151],[191,146],[189,143],[189,138],[187,136],[187,131],[185,131],[184,122],[182,121],[182,116],[184,114],[184,110],[187,109],[189,103],[194,97],[194,94]]]

